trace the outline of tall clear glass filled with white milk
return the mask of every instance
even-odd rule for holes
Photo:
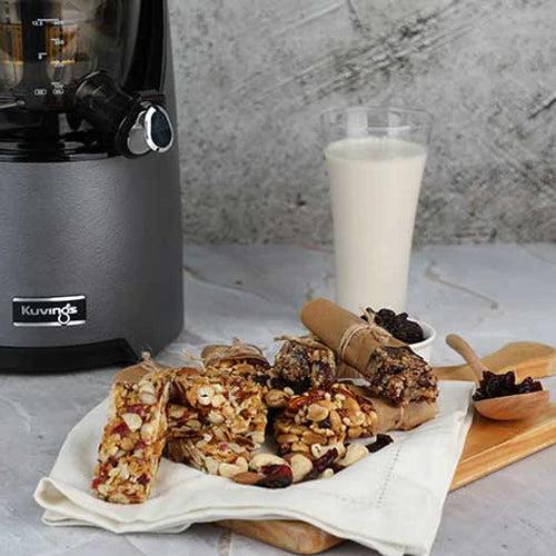
[[[405,310],[415,212],[431,117],[356,107],[321,116],[330,177],[336,301]]]

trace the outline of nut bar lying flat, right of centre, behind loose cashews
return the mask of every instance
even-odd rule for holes
[[[318,457],[325,446],[373,436],[376,424],[373,404],[336,383],[329,391],[309,390],[291,397],[274,424],[274,435],[281,454]]]

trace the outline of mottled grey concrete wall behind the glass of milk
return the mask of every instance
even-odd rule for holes
[[[556,240],[554,0],[169,1],[186,240],[329,241],[318,115],[388,102],[436,118],[418,242]]]

